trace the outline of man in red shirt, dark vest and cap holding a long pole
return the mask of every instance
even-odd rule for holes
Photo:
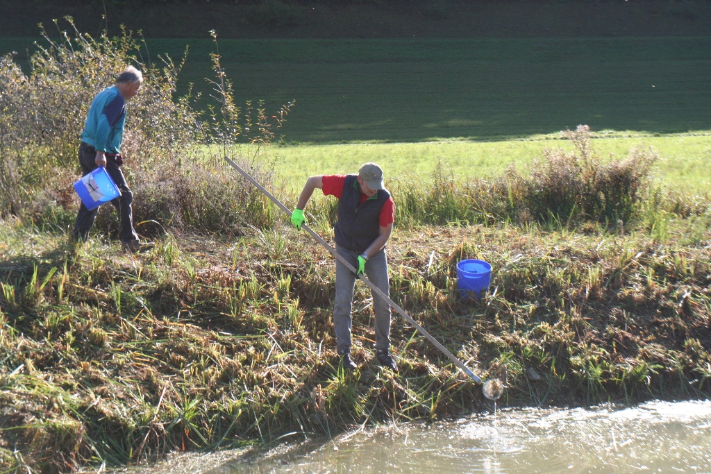
[[[336,252],[355,268],[365,272],[368,279],[390,296],[387,279],[385,243],[392,233],[394,205],[383,185],[383,170],[375,163],[365,163],[357,175],[311,176],[299,195],[292,213],[292,224],[297,229],[306,222],[304,208],[314,189],[338,198],[338,222],[334,227]],[[351,309],[355,275],[336,259],[336,301],[333,305],[333,330],[336,333],[338,355],[343,367],[358,368],[351,359]],[[397,364],[390,356],[390,305],[373,294],[375,311],[375,357],[381,365],[397,372]]]

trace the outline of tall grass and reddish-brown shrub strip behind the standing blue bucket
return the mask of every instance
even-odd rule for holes
[[[457,180],[442,161],[429,182],[395,181],[392,194],[400,225],[491,224],[510,220],[528,223],[625,222],[646,197],[652,149],[631,149],[623,160],[603,162],[592,149],[589,127],[562,132],[574,151],[546,149],[528,173],[509,168],[503,178]]]

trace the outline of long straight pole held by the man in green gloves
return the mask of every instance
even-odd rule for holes
[[[287,208],[287,206],[283,205],[283,204],[281,203],[281,201],[279,201],[277,198],[274,197],[274,195],[272,195],[272,193],[269,193],[269,191],[267,191],[267,190],[264,188],[264,186],[262,186],[260,183],[257,183],[257,181],[255,180],[255,178],[252,178],[252,176],[250,176],[250,174],[247,173],[247,171],[245,171],[245,170],[243,170],[242,168],[240,168],[240,166],[237,165],[237,163],[235,163],[234,161],[230,160],[230,158],[228,158],[227,156],[225,156],[225,161],[227,161],[228,163],[230,163],[230,166],[232,166],[232,168],[235,168],[235,170],[239,171],[242,176],[244,176],[245,178],[247,178],[247,181],[250,181],[250,183],[252,183],[253,185],[255,185],[255,186],[257,187],[257,189],[259,189],[260,191],[262,191],[262,193],[264,193],[265,195],[267,195],[267,198],[271,199],[274,204],[278,205],[279,208],[281,208],[281,209],[282,209],[284,212],[286,212],[288,215],[292,215],[292,211],[291,211],[289,208]],[[329,245],[328,242],[326,242],[323,238],[321,238],[320,235],[316,234],[316,232],[314,232],[314,230],[311,230],[311,227],[309,227],[308,225],[304,224],[304,225],[301,225],[301,228],[304,229],[304,230],[306,230],[306,232],[309,232],[309,234],[311,234],[311,237],[314,237],[314,239],[316,239],[321,245],[323,245],[323,246],[328,250],[328,252],[331,252],[331,254],[333,254],[333,257],[336,257],[338,260],[341,261],[342,264],[346,265],[346,268],[348,268],[349,270],[353,271],[353,273],[358,274],[358,271],[355,270],[355,268],[353,267],[353,265],[351,265],[346,259],[344,259],[343,257],[341,257],[341,255],[339,255],[338,252],[336,252],[336,249],[334,249],[333,247],[331,247],[331,245]],[[359,277],[361,280],[363,280],[363,283],[365,283],[366,285],[368,285],[368,287],[370,287],[370,289],[373,290],[374,293],[378,294],[378,296],[380,296],[380,298],[383,298],[385,301],[387,301],[387,304],[389,304],[392,309],[394,309],[395,311],[397,311],[397,313],[400,313],[400,316],[402,316],[403,318],[405,318],[405,320],[406,320],[408,323],[410,323],[410,324],[412,324],[413,326],[415,326],[415,329],[417,329],[420,334],[424,335],[425,338],[429,339],[429,342],[431,342],[432,344],[434,344],[434,347],[436,347],[437,349],[441,350],[441,351],[444,353],[444,355],[446,355],[447,357],[449,357],[449,359],[450,359],[452,362],[454,362],[454,365],[456,365],[457,367],[459,367],[462,372],[464,372],[466,375],[469,375],[469,377],[471,377],[471,379],[474,380],[474,382],[476,382],[476,383],[478,383],[478,384],[481,384],[481,379],[480,379],[479,377],[476,377],[476,375],[474,375],[474,372],[471,372],[471,370],[469,370],[469,367],[466,367],[466,365],[464,365],[464,363],[461,362],[461,360],[457,359],[457,358],[454,356],[454,354],[452,354],[451,352],[449,352],[449,350],[447,350],[447,348],[445,348],[444,345],[440,344],[439,341],[438,341],[437,339],[435,339],[435,338],[434,338],[430,333],[428,333],[426,330],[424,330],[424,328],[422,328],[421,325],[417,324],[417,321],[415,321],[414,319],[412,319],[412,317],[410,317],[409,314],[405,313],[405,310],[403,310],[402,308],[400,308],[400,306],[397,306],[397,304],[395,304],[394,301],[392,301],[390,298],[388,298],[387,296],[385,296],[385,293],[383,293],[383,291],[380,291],[380,289],[378,288],[378,286],[375,286],[375,284],[373,284],[370,280],[368,280],[368,279],[365,277],[365,275],[363,275],[363,274],[358,274],[358,277]]]

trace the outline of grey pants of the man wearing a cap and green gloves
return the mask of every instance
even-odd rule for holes
[[[358,254],[350,250],[336,247],[341,257],[358,269]],[[365,262],[365,276],[375,286],[390,297],[390,284],[387,280],[387,257],[385,249],[380,250]],[[351,352],[351,309],[355,275],[346,265],[336,259],[336,302],[333,305],[333,329],[336,333],[336,346],[339,354]],[[390,305],[383,298],[373,293],[373,310],[375,311],[375,348],[390,347]]]

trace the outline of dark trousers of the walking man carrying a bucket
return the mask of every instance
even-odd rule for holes
[[[82,167],[82,176],[86,176],[96,168],[96,149],[83,141],[79,146],[79,164]],[[124,173],[122,173],[115,158],[106,157],[106,171],[119,190],[121,190],[121,195],[111,201],[114,208],[119,212],[119,239],[121,239],[121,242],[135,242],[138,240],[138,235],[133,228],[133,210],[131,208],[133,193],[129,189]],[[88,210],[82,203],[72,231],[72,236],[75,239],[86,240],[89,237],[89,231],[94,226],[98,212],[99,208]]]

